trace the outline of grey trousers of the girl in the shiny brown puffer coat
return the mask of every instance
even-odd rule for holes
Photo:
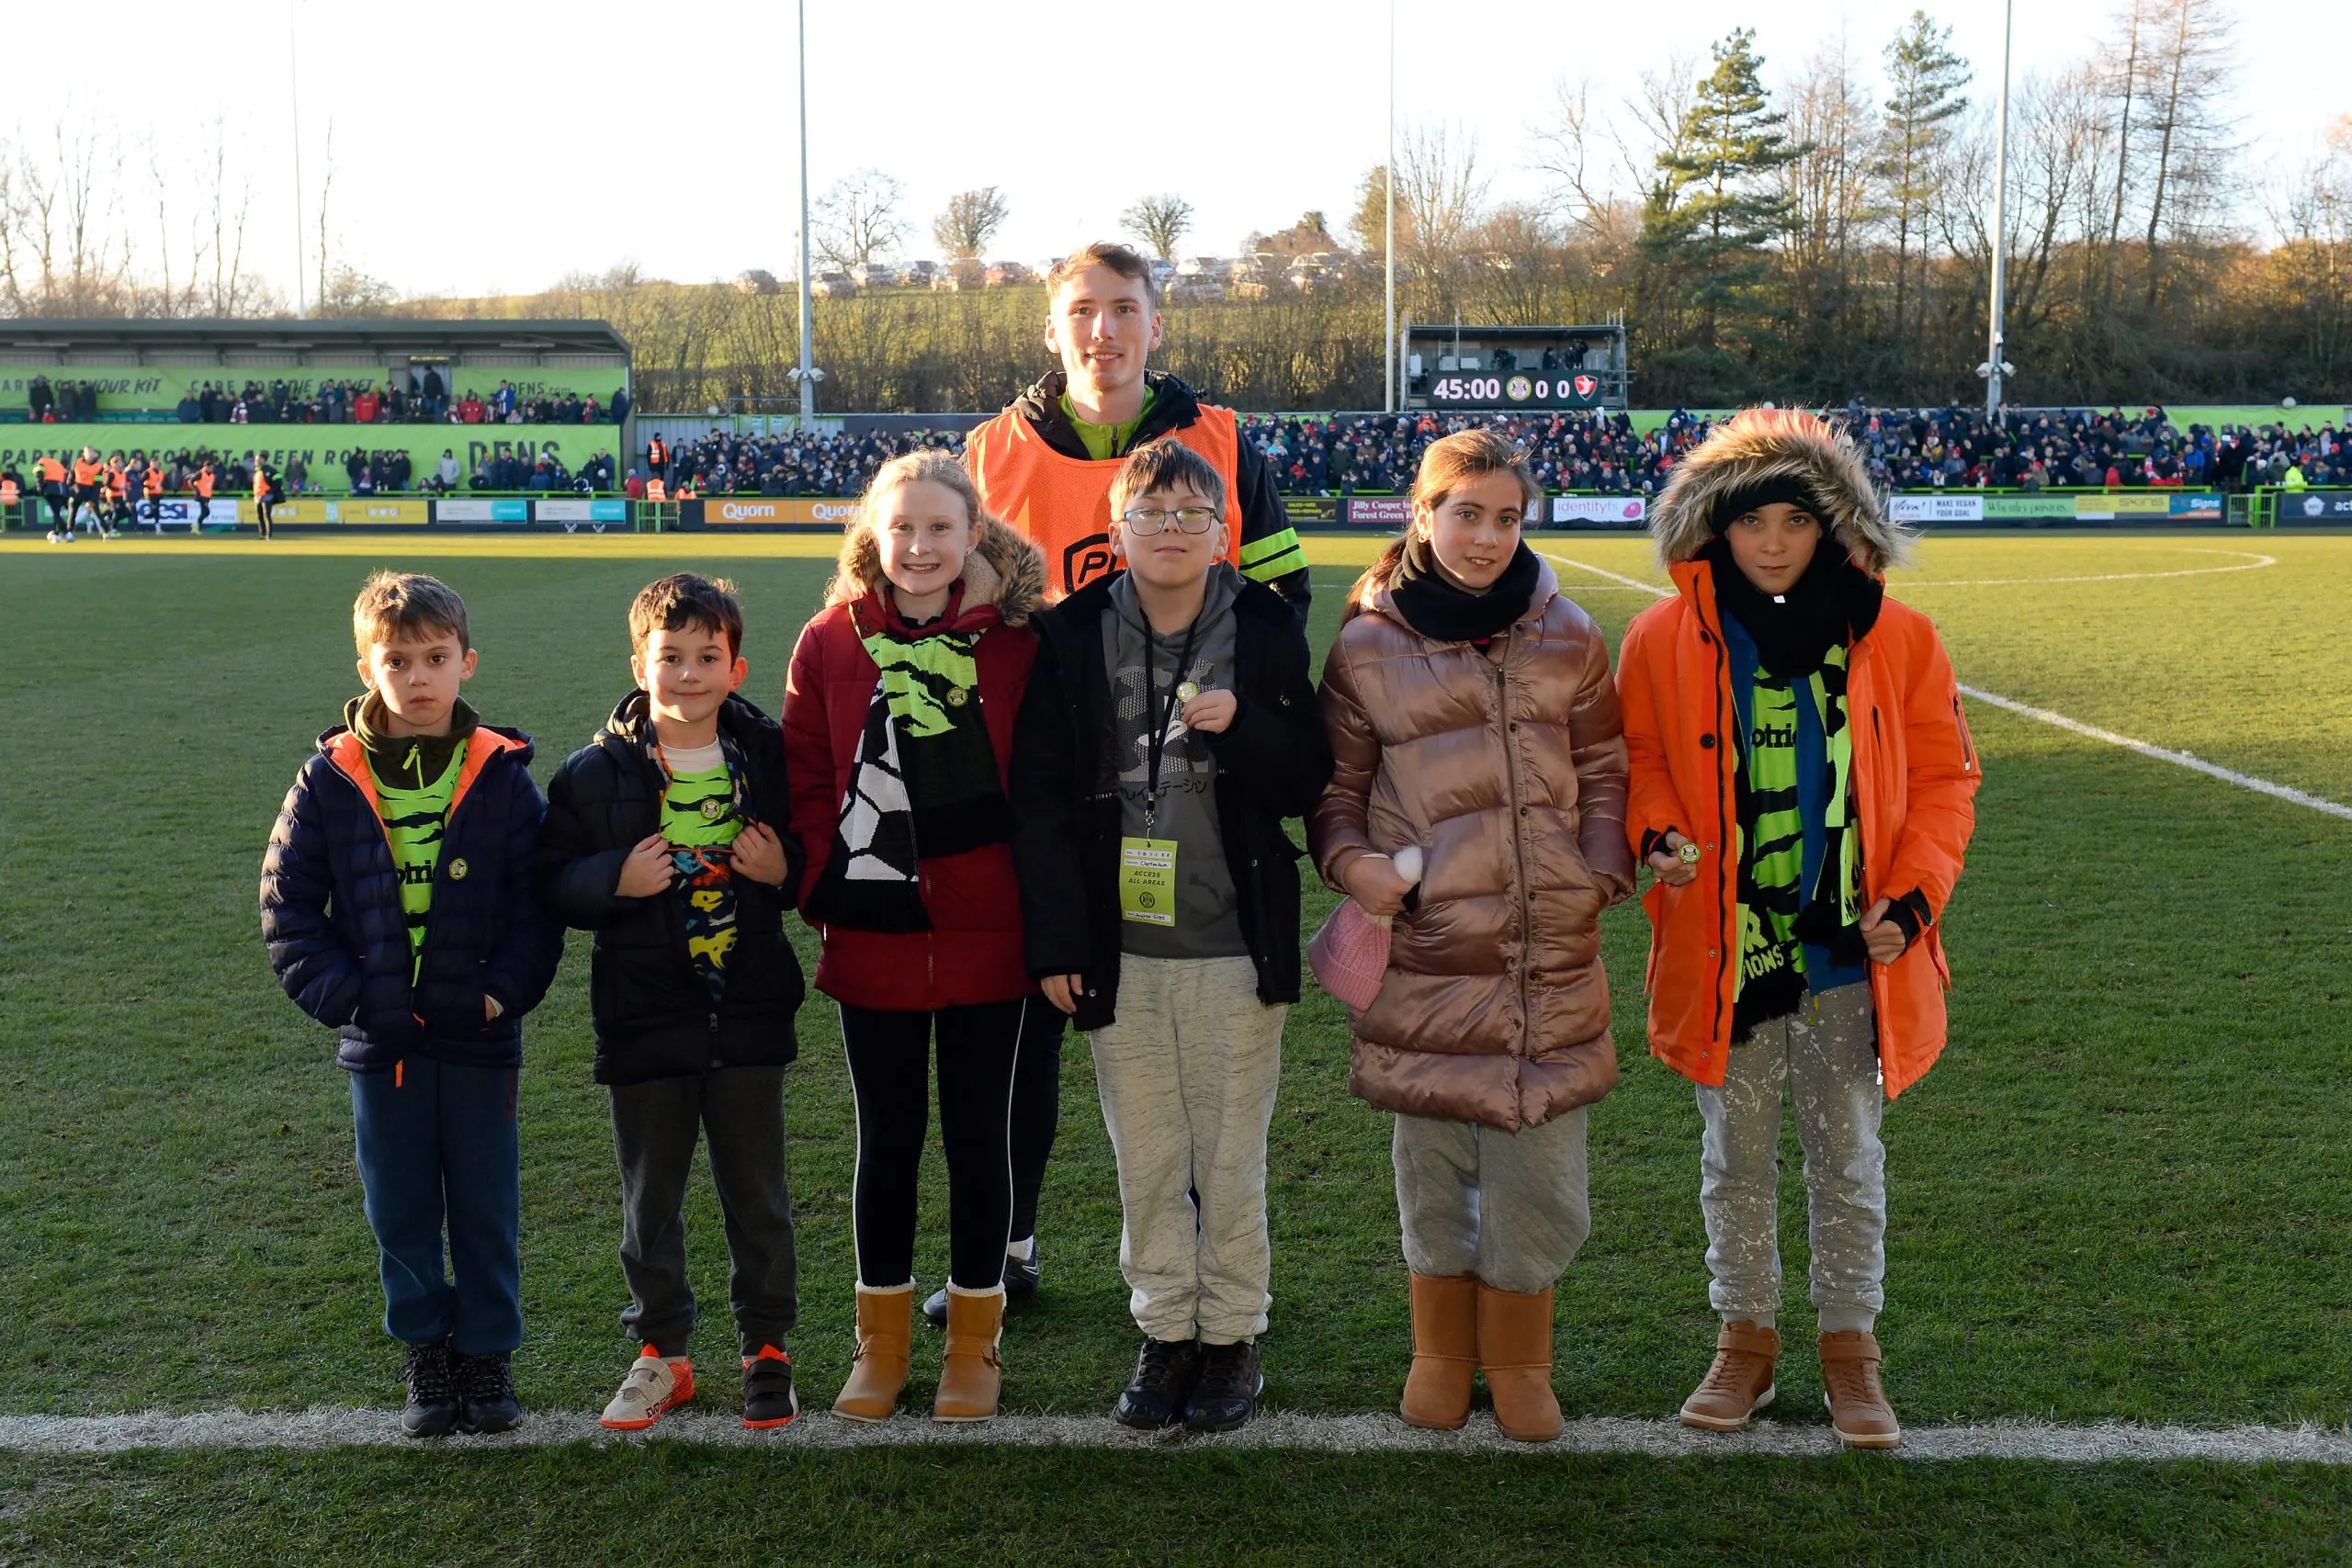
[[[1526,1295],[1559,1279],[1592,1234],[1583,1105],[1517,1133],[1397,1117],[1390,1157],[1416,1274],[1477,1274]]]

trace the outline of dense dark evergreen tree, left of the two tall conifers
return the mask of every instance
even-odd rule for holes
[[[1755,31],[1733,28],[1712,54],[1715,71],[1691,94],[1682,146],[1658,155],[1642,249],[1663,294],[1693,310],[1682,334],[1691,357],[1722,360],[1731,327],[1752,362],[1766,329],[1757,294],[1769,247],[1790,221],[1790,197],[1773,176],[1806,148],[1788,139],[1788,115],[1764,92]]]

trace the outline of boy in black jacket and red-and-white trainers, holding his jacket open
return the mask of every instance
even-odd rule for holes
[[[652,583],[628,635],[637,691],[555,773],[539,846],[548,907],[595,931],[595,1077],[621,1157],[621,1328],[642,1349],[604,1425],[640,1432],[694,1399],[684,1199],[701,1133],[727,1215],[743,1425],[781,1427],[800,1410],[783,1349],[800,1312],[783,1067],[802,997],[783,940],[800,886],[783,731],[734,693],[743,611],[727,583]]]

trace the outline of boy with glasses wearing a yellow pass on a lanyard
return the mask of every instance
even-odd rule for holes
[[[1225,559],[1216,468],[1141,447],[1110,512],[1124,571],[1033,621],[1014,865],[1030,976],[1091,1032],[1120,1164],[1145,1338],[1115,1415],[1232,1432],[1263,1385],[1265,1128],[1298,999],[1282,818],[1322,795],[1331,745],[1298,616]]]

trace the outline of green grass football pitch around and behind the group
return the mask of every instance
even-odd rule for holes
[[[1646,541],[1543,534],[1618,637]],[[1374,541],[1317,541],[1312,642]],[[628,686],[623,611],[722,571],[774,710],[830,571],[804,538],[282,538],[0,545],[0,1415],[388,1406],[374,1251],[332,1037],[278,992],[254,884],[310,738],[355,691],[367,569],[466,595],[468,696],[541,780]],[[2270,564],[2263,564],[2263,562]],[[1590,571],[1599,569],[1599,574]],[[2352,538],[1940,536],[1893,583],[1962,682],[2352,802]],[[1952,1046],[1891,1107],[1886,1385],[1907,1425],[2340,1427],[2352,1401],[2352,823],[1983,703],[1947,914]],[[1308,922],[1329,896],[1310,893]],[[802,933],[804,964],[814,952]],[[1623,1086],[1592,1114],[1595,1234],[1559,1288],[1571,1418],[1675,1410],[1712,1347],[1698,1114],[1642,1044],[1637,905],[1606,919]],[[588,1079],[586,938],[527,1025],[529,1406],[595,1408],[633,1347]],[[814,966],[814,964],[811,964]],[[851,1349],[849,1081],[802,1011],[790,1175],[804,1406]],[[1799,1154],[1785,1150],[1780,1420],[1818,1418]],[[1345,1013],[1294,1009],[1272,1133],[1268,1403],[1395,1406],[1409,1354],[1388,1119]],[[927,1215],[941,1215],[938,1161]],[[724,1248],[691,1197],[696,1338],[734,1394]],[[1082,1039],[1007,1333],[1007,1408],[1108,1413],[1134,1328]],[[927,1222],[917,1276],[943,1276]],[[929,1368],[924,1356],[929,1359]],[[929,1399],[917,1338],[908,1406]],[[1823,1427],[1828,1446],[1828,1432]],[[19,1561],[2343,1561],[2324,1469],[1284,1453],[442,1453],[0,1458]]]

